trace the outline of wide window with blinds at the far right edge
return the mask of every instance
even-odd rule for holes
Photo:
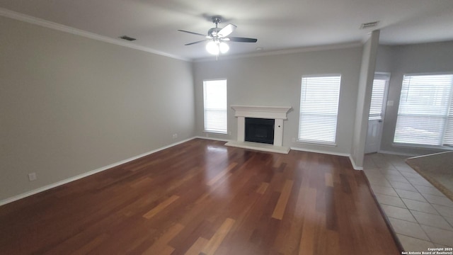
[[[394,142],[453,146],[453,74],[405,75]]]

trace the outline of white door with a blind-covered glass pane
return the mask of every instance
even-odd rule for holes
[[[378,152],[381,146],[382,121],[385,113],[385,99],[389,86],[389,74],[375,74],[369,107],[367,142],[365,153]]]

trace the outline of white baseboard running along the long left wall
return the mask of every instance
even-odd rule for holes
[[[135,159],[139,159],[139,158],[141,158],[141,157],[148,156],[148,155],[150,155],[150,154],[159,152],[159,151],[161,151],[161,150],[163,150],[163,149],[168,149],[168,148],[170,148],[170,147],[173,147],[173,146],[182,144],[183,142],[188,142],[188,141],[193,140],[193,139],[195,139],[195,137],[190,137],[190,138],[188,138],[188,139],[186,139],[186,140],[182,140],[182,141],[179,141],[179,142],[175,142],[175,143],[173,143],[173,144],[171,144],[171,145],[167,145],[167,146],[164,146],[164,147],[160,147],[159,149],[154,149],[154,150],[152,150],[152,151],[150,151],[150,152],[145,152],[145,153],[143,153],[143,154],[139,154],[138,156],[130,157],[129,159],[125,159],[125,160],[122,160],[122,161],[120,161],[120,162],[115,162],[115,163],[113,163],[113,164],[109,164],[108,166],[103,166],[103,167],[100,167],[100,168],[98,168],[98,169],[94,169],[94,170],[88,171],[88,172],[86,172],[86,173],[84,173],[84,174],[79,174],[79,175],[77,175],[77,176],[70,177],[70,178],[68,178],[68,179],[64,179],[64,180],[62,180],[62,181],[57,181],[56,183],[52,183],[52,184],[43,186],[43,187],[41,187],[41,188],[36,188],[36,189],[33,190],[33,191],[27,191],[27,192],[21,193],[21,194],[19,194],[19,195],[17,195],[17,196],[13,196],[13,197],[11,197],[11,198],[6,198],[6,199],[4,199],[4,200],[0,200],[0,206],[1,206],[1,205],[6,205],[7,203],[11,203],[11,202],[14,202],[14,201],[19,200],[19,199],[22,199],[22,198],[26,198],[26,197],[28,197],[28,196],[35,195],[35,194],[40,193],[40,192],[42,192],[42,191],[47,191],[47,190],[50,189],[50,188],[55,188],[55,187],[57,187],[57,186],[61,186],[61,185],[66,184],[66,183],[70,183],[71,181],[76,181],[76,180],[82,179],[82,178],[84,178],[84,177],[86,177],[86,176],[91,176],[92,174],[97,174],[97,173],[99,173],[99,172],[101,172],[101,171],[105,171],[105,170],[111,169],[111,168],[113,168],[113,167],[115,167],[115,166],[119,166],[120,164],[125,164],[125,163],[127,163],[127,162],[131,162],[132,160],[135,160]]]

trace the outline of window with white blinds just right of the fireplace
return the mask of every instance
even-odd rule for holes
[[[335,144],[340,75],[302,77],[299,141]]]

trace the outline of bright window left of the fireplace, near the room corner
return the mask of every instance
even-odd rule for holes
[[[203,81],[205,131],[226,134],[226,79]]]

